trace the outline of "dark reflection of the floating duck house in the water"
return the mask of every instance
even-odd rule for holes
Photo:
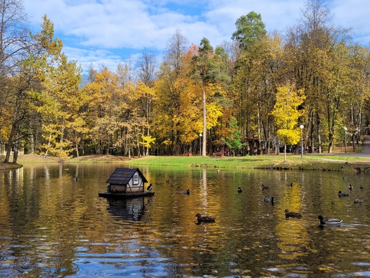
[[[108,199],[108,211],[115,220],[139,221],[145,212],[145,197],[126,198],[123,200]]]

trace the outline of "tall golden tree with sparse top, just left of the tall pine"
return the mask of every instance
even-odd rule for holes
[[[158,98],[154,106],[153,126],[160,138],[158,143],[164,144],[175,155],[180,154],[182,143],[189,143],[188,137],[184,136],[184,129],[187,127],[182,125],[183,119],[184,117],[186,120],[193,119],[193,116],[184,115],[184,113],[193,110],[189,107],[191,102],[188,102],[188,97],[190,100],[193,97],[192,93],[187,91],[190,84],[187,75],[190,65],[186,53],[188,50],[186,43],[187,39],[182,32],[176,30],[167,42],[167,51],[160,65],[156,82]],[[193,115],[195,114],[193,113]],[[190,124],[190,126],[194,126],[194,124]]]

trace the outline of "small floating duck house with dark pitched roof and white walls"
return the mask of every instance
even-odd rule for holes
[[[145,191],[147,179],[138,168],[116,168],[108,178],[107,191],[118,194],[136,194]]]

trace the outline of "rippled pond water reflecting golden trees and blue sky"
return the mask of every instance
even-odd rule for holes
[[[155,196],[99,197],[116,167],[0,172],[0,277],[370,277],[369,174],[140,166]]]

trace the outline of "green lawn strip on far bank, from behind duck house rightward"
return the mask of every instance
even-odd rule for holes
[[[369,172],[370,159],[341,155],[310,154],[303,159],[299,155],[260,155],[247,157],[143,157],[126,161],[129,165],[172,165],[188,167],[217,167],[240,169],[275,170],[323,170]]]

